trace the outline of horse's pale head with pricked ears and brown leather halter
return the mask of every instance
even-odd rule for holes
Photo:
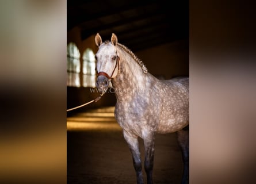
[[[109,81],[115,78],[119,72],[119,55],[116,50],[117,36],[112,33],[111,42],[102,39],[99,33],[95,36],[95,44],[98,46],[98,52],[95,54],[97,60],[97,81],[96,87],[99,91],[106,91],[109,87]]]

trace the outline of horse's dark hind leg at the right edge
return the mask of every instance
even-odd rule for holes
[[[189,125],[177,132],[178,144],[181,147],[184,171],[182,184],[189,183]]]

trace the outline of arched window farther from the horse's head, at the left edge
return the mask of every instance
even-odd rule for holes
[[[67,45],[67,86],[80,87],[80,52],[77,45]]]

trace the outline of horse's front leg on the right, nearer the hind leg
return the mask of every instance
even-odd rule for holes
[[[143,138],[145,147],[144,168],[147,173],[147,184],[152,184],[152,171],[154,166],[155,138],[153,134]]]

